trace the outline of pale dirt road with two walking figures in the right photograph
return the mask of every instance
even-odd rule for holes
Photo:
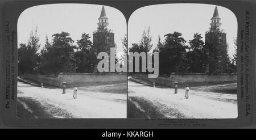
[[[193,89],[193,88],[192,88]],[[159,88],[128,81],[127,117],[147,118],[236,118],[236,94],[221,94],[210,91],[189,91]],[[225,100],[224,100],[225,99]],[[136,112],[136,113],[133,113]]]

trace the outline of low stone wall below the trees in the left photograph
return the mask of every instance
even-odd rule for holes
[[[51,86],[61,87],[67,82],[67,87],[90,86],[95,84],[126,82],[126,74],[91,74],[91,73],[60,73],[59,75],[32,75],[25,74],[23,78],[43,82]]]

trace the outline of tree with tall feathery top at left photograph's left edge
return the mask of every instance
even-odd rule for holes
[[[39,45],[39,37],[37,35],[38,29],[35,31],[31,31],[30,39],[27,44],[19,44],[18,48],[18,74],[24,73],[37,73],[40,57],[38,50],[40,48]]]

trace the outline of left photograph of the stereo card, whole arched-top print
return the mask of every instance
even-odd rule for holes
[[[16,116],[126,118],[127,76],[112,69],[113,63],[124,66],[126,27],[122,12],[109,6],[52,4],[24,10],[17,27]]]

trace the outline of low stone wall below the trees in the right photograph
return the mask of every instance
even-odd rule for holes
[[[148,78],[147,74],[137,73],[132,77],[155,82],[163,86],[173,87],[174,82],[178,82],[180,86],[200,86],[212,83],[232,83],[237,82],[237,74],[170,74],[170,77],[158,77],[155,79]]]

